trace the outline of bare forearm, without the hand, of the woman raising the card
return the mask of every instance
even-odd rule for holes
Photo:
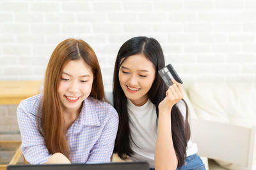
[[[157,143],[155,152],[156,170],[176,169],[178,160],[172,142],[170,111],[160,113],[158,118]]]

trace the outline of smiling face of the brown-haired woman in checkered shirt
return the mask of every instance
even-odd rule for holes
[[[61,73],[58,97],[64,112],[76,112],[92,90],[93,73],[84,60],[70,60]]]

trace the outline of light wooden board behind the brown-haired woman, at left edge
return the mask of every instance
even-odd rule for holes
[[[39,93],[42,81],[0,81],[0,104],[19,104]]]

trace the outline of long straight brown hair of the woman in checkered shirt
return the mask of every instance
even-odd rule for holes
[[[62,153],[68,159],[69,147],[66,139],[63,113],[60,99],[57,95],[61,79],[61,71],[70,60],[83,59],[93,73],[93,84],[90,97],[106,100],[99,62],[92,47],[81,39],[66,39],[52,52],[45,71],[44,97],[42,99],[42,114],[40,117],[41,133],[44,136],[49,153]]]

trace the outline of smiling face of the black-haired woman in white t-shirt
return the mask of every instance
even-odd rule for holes
[[[148,91],[155,80],[156,70],[142,53],[131,55],[123,62],[118,76],[125,96],[136,106],[147,103]]]

